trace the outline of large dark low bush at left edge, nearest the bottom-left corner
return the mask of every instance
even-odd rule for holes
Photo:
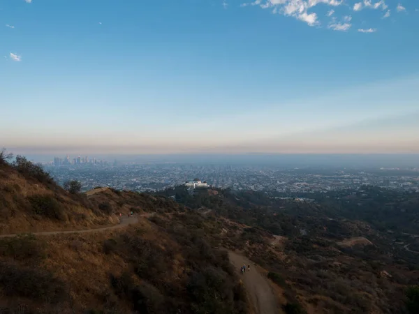
[[[0,287],[11,297],[27,297],[35,301],[57,303],[64,300],[64,283],[48,271],[39,268],[18,268],[0,263]]]

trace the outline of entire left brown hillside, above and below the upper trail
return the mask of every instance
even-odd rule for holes
[[[0,237],[0,313],[252,313],[199,214],[166,197],[108,188],[71,195],[44,172],[0,167],[3,234],[102,227]],[[44,211],[34,198],[47,200]],[[103,230],[128,211],[133,225]]]

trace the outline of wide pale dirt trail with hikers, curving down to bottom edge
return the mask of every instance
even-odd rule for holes
[[[265,276],[258,272],[257,267],[246,257],[229,251],[230,262],[237,269],[257,314],[277,314],[277,298]],[[250,271],[240,274],[240,267],[250,265]]]

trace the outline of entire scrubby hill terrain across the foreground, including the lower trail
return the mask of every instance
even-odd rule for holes
[[[0,237],[0,313],[416,313],[417,235],[383,230],[395,213],[368,220],[385,191],[369,211],[220,189],[71,194],[23,165],[0,165],[1,233],[89,233]],[[416,216],[417,195],[391,197],[399,222]]]

